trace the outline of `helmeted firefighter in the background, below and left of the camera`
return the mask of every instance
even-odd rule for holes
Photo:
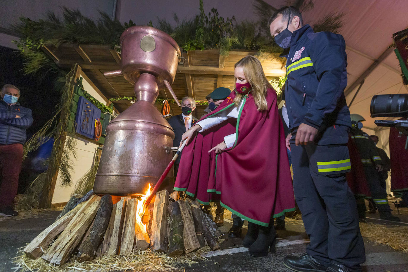
[[[367,133],[361,130],[363,127],[363,123],[361,122],[366,120],[364,117],[358,114],[352,114],[351,120],[353,124],[351,139],[354,139],[359,150],[361,163],[363,164],[364,173],[366,174],[368,188],[370,190],[371,197],[377,206],[380,218],[390,221],[399,221],[398,217],[391,214],[386,189],[381,186],[382,181],[379,172],[381,172],[384,163],[381,160],[381,157],[378,155],[374,142],[368,137]]]

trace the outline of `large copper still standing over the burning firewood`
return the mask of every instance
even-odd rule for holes
[[[135,104],[106,127],[106,139],[95,177],[97,194],[142,195],[152,187],[171,161],[174,132],[154,106],[159,90],[171,88],[177,64],[184,58],[175,40],[153,27],[130,27],[120,36],[121,70],[105,77],[123,75],[134,84]],[[183,63],[183,62],[180,62]],[[173,189],[170,172],[162,188]]]

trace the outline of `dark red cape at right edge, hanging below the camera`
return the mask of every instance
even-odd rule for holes
[[[401,119],[402,120],[402,119]],[[408,150],[405,149],[407,137],[397,128],[390,128],[391,191],[408,190]]]

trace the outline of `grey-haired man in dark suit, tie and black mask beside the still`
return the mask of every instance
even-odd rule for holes
[[[198,121],[198,119],[193,117],[191,114],[195,110],[195,101],[193,98],[189,96],[183,97],[181,100],[181,106],[182,113],[167,120],[174,131],[175,137],[173,140],[173,146],[179,146],[183,133],[194,126],[195,122]],[[174,162],[174,177],[177,176],[181,155],[182,154],[180,154],[180,156],[178,156],[177,160]]]

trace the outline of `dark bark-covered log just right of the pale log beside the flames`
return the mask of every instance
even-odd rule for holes
[[[169,257],[183,254],[183,217],[181,215],[179,201],[172,202],[167,207],[169,212],[170,234],[169,234]]]

